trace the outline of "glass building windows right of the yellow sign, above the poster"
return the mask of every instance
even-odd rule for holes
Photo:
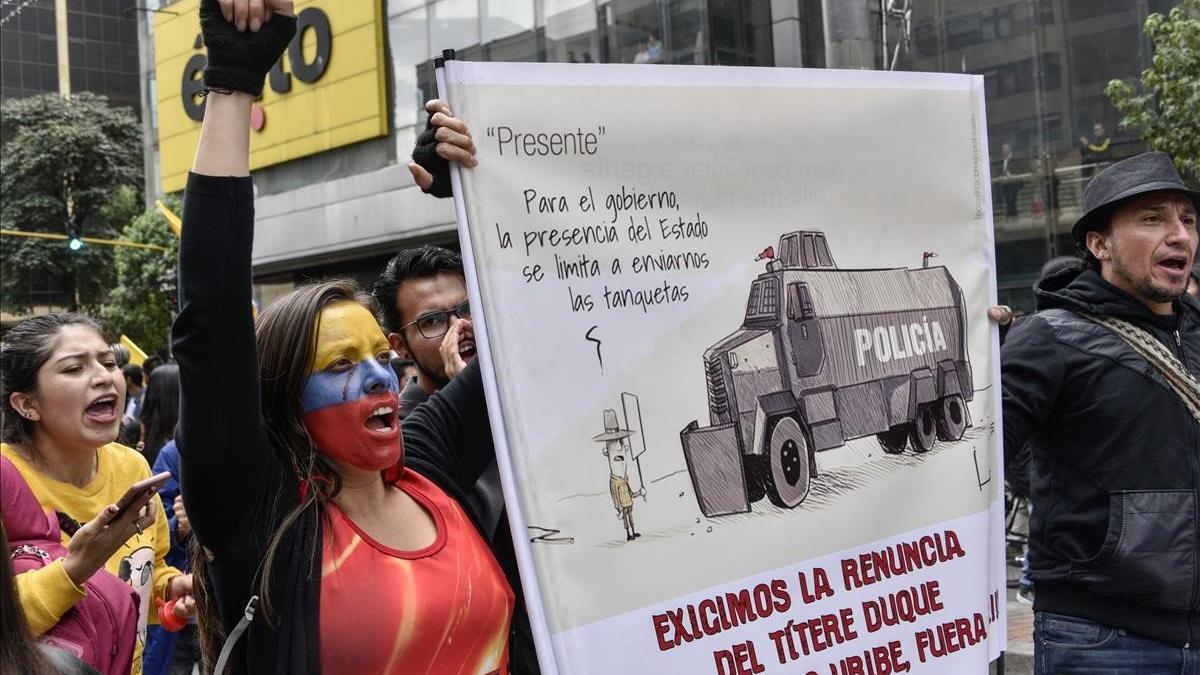
[[[443,49],[484,61],[774,65],[770,0],[407,0],[389,13],[400,156],[437,96]]]

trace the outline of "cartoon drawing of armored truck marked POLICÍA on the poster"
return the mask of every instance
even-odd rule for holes
[[[962,291],[943,267],[838,269],[822,232],[790,232],[745,321],[704,352],[710,426],[682,432],[704,515],[804,501],[815,453],[875,435],[924,453],[971,425]],[[928,257],[926,257],[928,262]]]

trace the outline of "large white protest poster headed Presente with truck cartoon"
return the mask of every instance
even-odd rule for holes
[[[984,673],[983,79],[443,76],[479,149],[460,219],[544,671]]]

